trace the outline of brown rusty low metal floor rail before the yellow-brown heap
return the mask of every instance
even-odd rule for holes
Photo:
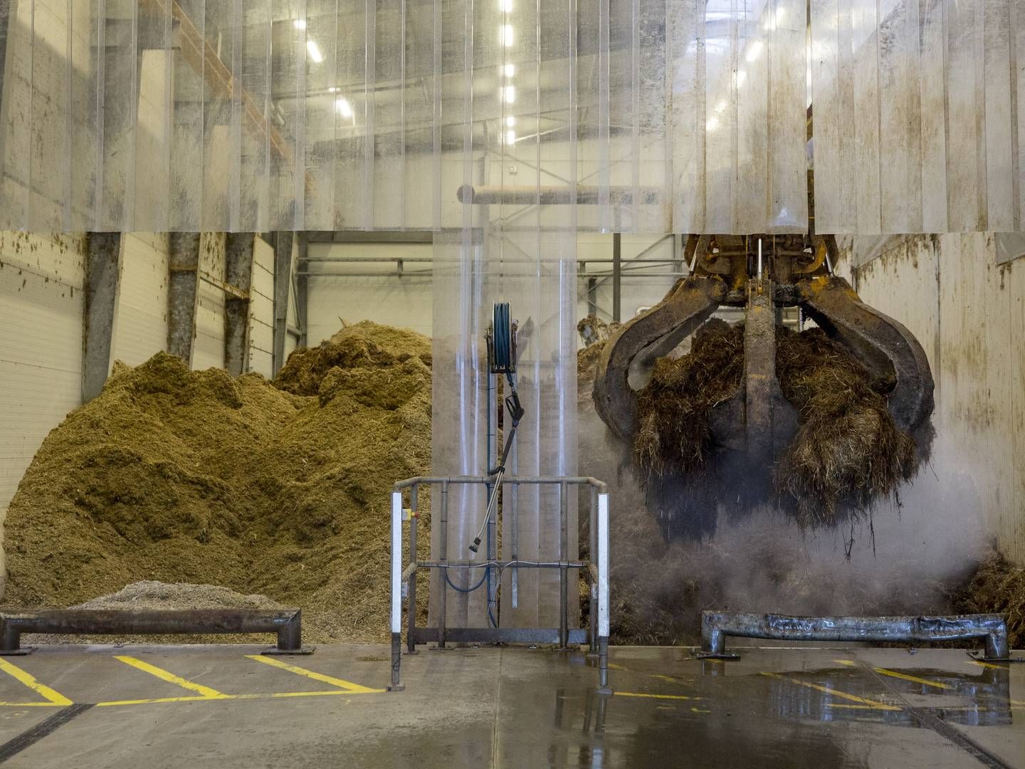
[[[276,651],[302,651],[298,609],[44,609],[0,612],[0,655],[25,653],[23,633],[79,635],[193,635],[274,633]]]

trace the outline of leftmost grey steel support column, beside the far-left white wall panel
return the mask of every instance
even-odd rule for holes
[[[120,233],[89,233],[85,264],[82,402],[99,395],[111,370],[114,312],[121,281]]]

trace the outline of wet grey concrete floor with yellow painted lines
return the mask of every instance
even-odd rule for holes
[[[260,648],[0,658],[0,764],[1025,767],[1025,664],[963,650],[622,647],[602,696],[582,653],[423,650],[385,692],[384,647],[246,656]]]

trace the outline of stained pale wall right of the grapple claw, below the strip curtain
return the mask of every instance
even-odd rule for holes
[[[929,356],[938,477],[1025,564],[1025,259],[998,264],[998,237],[893,238],[852,277]]]

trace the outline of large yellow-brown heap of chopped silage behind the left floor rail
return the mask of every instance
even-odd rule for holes
[[[4,604],[208,583],[301,607],[313,642],[385,639],[388,491],[429,471],[429,360],[426,337],[361,323],[280,387],[164,353],[119,366],[11,500]]]

